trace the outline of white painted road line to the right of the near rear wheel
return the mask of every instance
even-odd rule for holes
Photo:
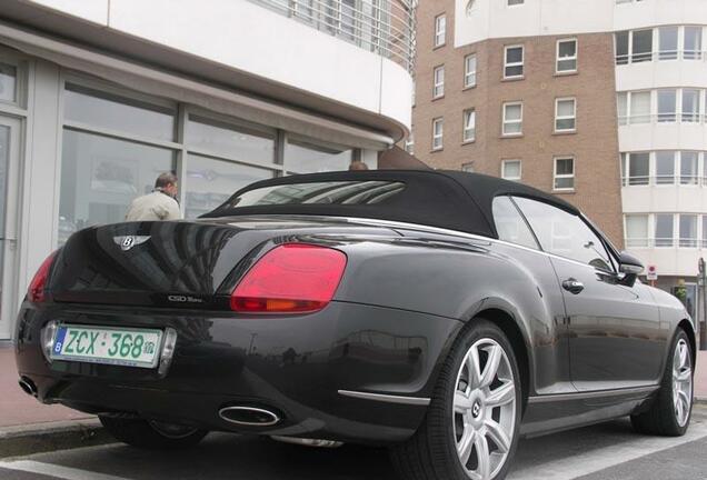
[[[511,470],[508,480],[571,480],[705,437],[707,424],[693,423],[684,437],[647,437],[626,444],[613,444],[527,469]]]

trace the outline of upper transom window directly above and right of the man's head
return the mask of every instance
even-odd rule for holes
[[[247,162],[275,163],[275,133],[191,118],[186,142],[188,148]]]

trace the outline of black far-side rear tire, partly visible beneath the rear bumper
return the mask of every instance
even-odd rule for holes
[[[99,419],[106,430],[117,440],[147,450],[173,450],[193,447],[208,433],[206,430],[186,428],[172,428],[172,431],[169,431],[167,426],[160,428],[160,423],[142,419],[102,416]]]

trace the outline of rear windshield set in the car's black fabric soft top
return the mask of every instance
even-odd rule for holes
[[[328,181],[288,183],[248,190],[229,200],[228,207],[277,204],[376,204],[400,193],[405,183],[395,181]]]

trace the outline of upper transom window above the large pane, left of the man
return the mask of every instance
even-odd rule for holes
[[[83,87],[67,86],[64,118],[96,128],[104,128],[158,140],[175,140],[175,113]]]

